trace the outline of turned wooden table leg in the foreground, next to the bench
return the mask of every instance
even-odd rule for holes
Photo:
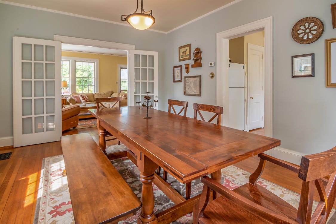
[[[150,160],[147,156],[144,156],[140,152],[138,155],[138,168],[140,170],[140,180],[142,182],[141,190],[141,213],[138,217],[137,223],[144,224],[156,224],[156,216],[154,214],[154,193],[153,193],[153,179],[154,172],[158,169],[158,165]]]

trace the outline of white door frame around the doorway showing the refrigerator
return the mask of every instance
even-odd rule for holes
[[[228,63],[229,39],[242,37],[257,31],[265,32],[265,97],[264,97],[264,124],[265,136],[273,136],[273,17],[263,18],[236,28],[225,30],[216,34],[217,49],[217,82],[216,103],[224,107],[222,125],[228,125]]]

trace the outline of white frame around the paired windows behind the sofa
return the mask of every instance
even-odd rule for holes
[[[98,59],[94,58],[82,58],[82,57],[64,57],[62,56],[61,60],[68,60],[70,61],[70,94],[76,92],[76,61],[83,61],[83,62],[94,62],[94,92],[99,92],[99,66],[98,66]]]

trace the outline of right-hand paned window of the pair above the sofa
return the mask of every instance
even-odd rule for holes
[[[95,92],[94,71],[94,62],[76,61],[76,92]]]

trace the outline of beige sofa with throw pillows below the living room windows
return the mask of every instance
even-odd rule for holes
[[[113,91],[107,91],[103,93],[76,93],[73,92],[71,93],[71,96],[67,98],[67,101],[69,102],[70,105],[75,105],[75,104],[82,104],[83,101],[79,97],[79,95],[86,95],[87,98],[89,99],[89,102],[86,103],[95,103],[96,98],[105,98],[105,97],[121,97],[121,106],[127,106],[127,93],[121,92],[121,93],[114,93]],[[104,106],[106,107],[112,107],[115,102],[107,102],[103,103]],[[118,106],[118,104],[115,105],[115,107]]]

